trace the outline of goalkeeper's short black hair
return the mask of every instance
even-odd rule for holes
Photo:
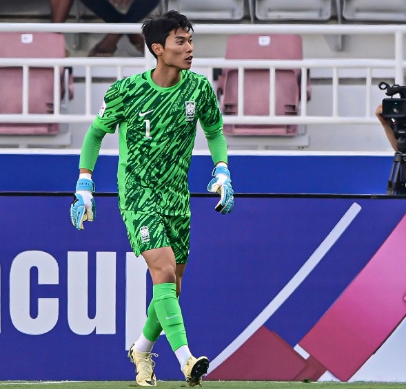
[[[192,23],[185,17],[185,15],[180,14],[178,11],[170,10],[165,12],[165,14],[155,14],[152,17],[145,19],[142,25],[142,32],[145,39],[145,44],[150,50],[150,53],[155,57],[156,54],[152,50],[153,43],[160,43],[165,48],[165,41],[172,30],[183,30],[189,32],[193,27]]]

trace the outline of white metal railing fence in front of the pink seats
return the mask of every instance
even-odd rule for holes
[[[107,32],[140,32],[141,25],[114,25],[105,23],[0,23],[0,32],[88,32],[88,33],[107,33]],[[302,61],[252,61],[252,60],[226,60],[224,58],[194,58],[193,66],[205,68],[209,78],[212,75],[213,68],[234,67],[238,68],[238,82],[243,85],[243,69],[247,68],[269,68],[270,69],[270,115],[269,116],[244,116],[243,115],[243,96],[244,88],[238,87],[238,114],[236,116],[224,116],[225,124],[298,124],[298,125],[345,125],[345,124],[376,124],[372,105],[372,86],[375,74],[385,74],[392,78],[395,83],[403,85],[404,69],[406,62],[403,59],[405,47],[405,25],[252,25],[252,24],[196,24],[194,25],[194,35],[227,35],[227,34],[301,34],[305,36],[389,36],[388,41],[393,42],[393,56],[389,59],[380,58],[380,51],[376,50],[374,58],[353,59],[310,59],[305,58]],[[96,67],[114,67],[116,69],[116,78],[123,76],[123,70],[126,67],[139,67],[148,69],[154,67],[155,60],[145,50],[145,58],[89,58],[89,57],[68,57],[64,59],[6,59],[0,58],[0,67],[19,66],[23,67],[23,112],[22,114],[0,114],[0,123],[89,123],[94,118],[95,112],[92,112],[92,70]],[[28,68],[29,67],[54,67],[55,74],[59,74],[60,67],[85,68],[84,83],[85,95],[83,105],[85,107],[82,114],[61,113],[59,101],[59,79],[54,80],[54,113],[53,114],[29,114],[28,113]],[[279,68],[301,68],[301,94],[306,95],[307,88],[307,69],[310,75],[317,74],[318,70],[329,70],[332,74],[331,94],[332,107],[320,114],[309,114],[307,110],[307,101],[301,100],[301,109],[298,116],[276,116],[274,107],[274,79],[275,70]],[[340,84],[340,72],[360,71],[365,75],[365,94],[358,98],[365,101],[365,109],[357,112],[356,115],[343,115],[338,109],[338,88]],[[380,73],[383,72],[383,73]],[[212,81],[212,80],[210,80]],[[97,96],[100,98],[100,96]]]

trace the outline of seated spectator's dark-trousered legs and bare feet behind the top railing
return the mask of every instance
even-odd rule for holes
[[[50,0],[52,23],[65,23],[74,0]],[[139,23],[160,0],[80,0],[105,23]],[[106,34],[89,52],[89,56],[113,56],[124,34]],[[144,52],[142,34],[126,34],[139,52]]]

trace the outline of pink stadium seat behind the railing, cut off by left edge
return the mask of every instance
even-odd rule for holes
[[[0,33],[0,58],[61,58],[65,56],[63,34],[36,32]],[[61,98],[65,93],[64,69],[61,68]],[[22,67],[0,67],[0,114],[23,112]],[[28,72],[28,113],[50,114],[54,110],[54,69],[30,67]],[[69,97],[73,97],[70,74]],[[57,134],[58,123],[0,123],[0,134]]]

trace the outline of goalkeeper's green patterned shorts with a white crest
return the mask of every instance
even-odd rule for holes
[[[172,248],[177,264],[189,257],[190,215],[161,215],[120,209],[132,250],[138,257],[144,251]]]

